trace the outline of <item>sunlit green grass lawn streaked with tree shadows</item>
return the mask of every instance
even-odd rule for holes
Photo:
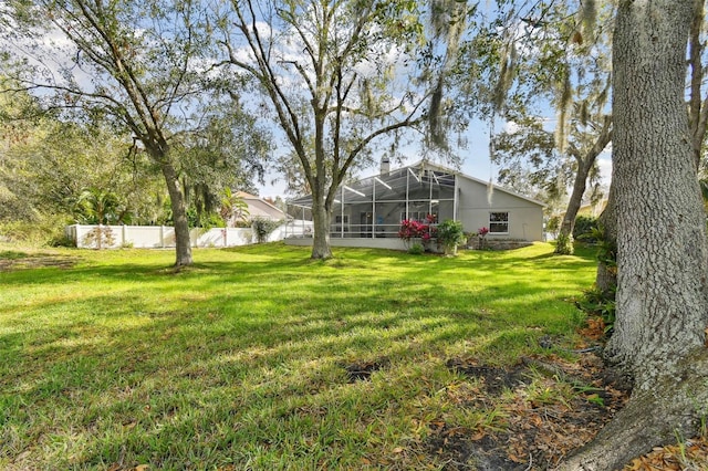
[[[0,249],[0,469],[437,469],[446,363],[572,346],[591,250]],[[352,380],[348,370],[371,371]]]

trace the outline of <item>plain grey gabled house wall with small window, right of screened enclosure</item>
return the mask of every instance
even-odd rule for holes
[[[488,239],[520,239],[527,241],[543,240],[543,207],[524,198],[494,189],[491,205],[488,201],[487,185],[458,177],[459,202],[458,219],[465,230],[477,232],[480,228],[508,227],[506,233],[490,232]],[[508,221],[494,223],[491,213],[507,213]]]

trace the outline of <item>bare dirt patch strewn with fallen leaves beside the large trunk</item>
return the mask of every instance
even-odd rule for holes
[[[524,358],[511,368],[452,358],[448,368],[473,387],[460,407],[497,410],[503,427],[468,430],[438,421],[427,448],[448,470],[546,470],[590,441],[624,406],[628,391],[607,383],[594,354],[577,363],[556,356]],[[501,395],[503,394],[503,397]]]

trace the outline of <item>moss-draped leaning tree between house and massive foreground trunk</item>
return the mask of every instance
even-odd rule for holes
[[[577,211],[592,185],[591,199],[602,197],[596,159],[612,139],[610,97],[608,2],[554,2],[533,6],[512,24],[518,42],[520,91],[529,106],[506,107],[516,126],[494,138],[492,163],[499,181],[525,180],[546,195],[572,188],[560,227],[556,252],[572,252]],[[506,97],[504,100],[510,100]],[[532,106],[548,101],[556,111],[554,130]]]

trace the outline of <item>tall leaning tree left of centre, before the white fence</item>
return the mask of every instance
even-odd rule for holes
[[[176,266],[192,263],[180,166],[171,144],[195,124],[204,92],[204,48],[190,1],[38,0],[10,2],[6,35],[24,90],[55,92],[50,106],[105,116],[126,127],[159,167],[171,203]],[[67,40],[64,43],[64,40]],[[45,97],[46,98],[46,97]]]

